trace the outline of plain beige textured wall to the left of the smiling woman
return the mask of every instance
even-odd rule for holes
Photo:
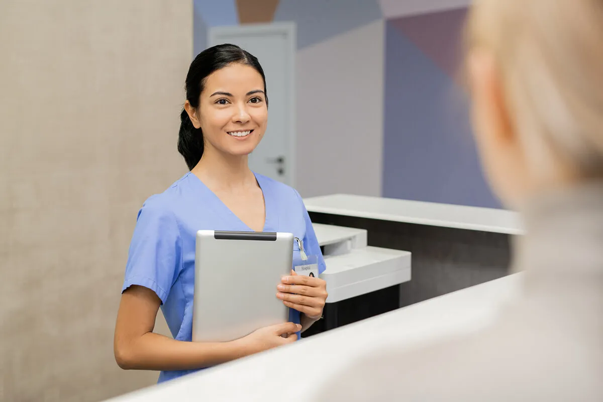
[[[100,400],[136,213],[175,150],[192,4],[2,0],[0,400]],[[160,325],[165,332],[165,322]]]

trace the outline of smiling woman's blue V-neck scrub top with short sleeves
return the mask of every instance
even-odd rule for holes
[[[318,256],[318,270],[322,273],[324,259],[299,193],[268,177],[255,176],[264,193],[264,231],[293,233],[302,239],[306,254]],[[138,213],[125,268],[122,292],[132,285],[154,291],[162,301],[161,309],[172,336],[178,341],[192,340],[198,230],[251,231],[197,176],[188,172],[165,192],[145,201]],[[299,254],[294,242],[294,260],[300,259]],[[289,319],[298,324],[300,313],[290,311]],[[162,371],[158,382],[194,371],[197,370]]]

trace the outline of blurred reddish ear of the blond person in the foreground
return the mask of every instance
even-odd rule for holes
[[[473,114],[479,131],[494,136],[499,143],[514,142],[516,134],[505,97],[503,77],[494,56],[482,49],[473,49],[468,57]],[[480,133],[482,134],[482,133]]]

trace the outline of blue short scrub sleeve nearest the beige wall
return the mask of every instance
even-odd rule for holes
[[[122,292],[147,287],[165,303],[182,261],[182,239],[171,210],[149,198],[140,209],[128,251]]]

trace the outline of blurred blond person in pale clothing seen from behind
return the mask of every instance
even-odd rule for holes
[[[603,0],[477,0],[466,71],[522,293],[470,336],[371,353],[325,401],[603,401]],[[321,399],[322,398],[322,399]]]

